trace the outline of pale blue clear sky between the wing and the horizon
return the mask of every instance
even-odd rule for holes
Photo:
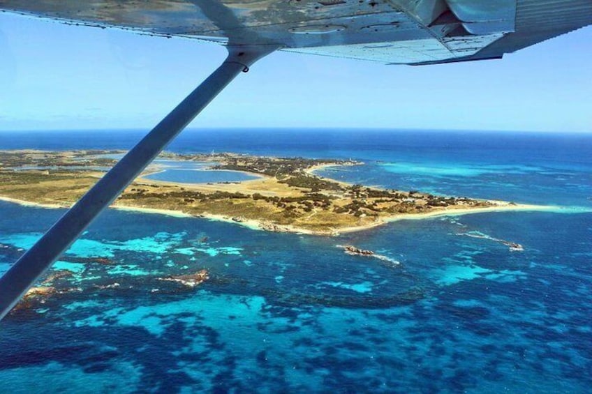
[[[225,49],[0,13],[0,56],[0,130],[149,130]],[[436,66],[276,52],[190,127],[592,132],[591,65],[592,26],[503,60]]]

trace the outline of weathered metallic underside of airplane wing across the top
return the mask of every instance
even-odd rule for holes
[[[0,10],[405,64],[500,58],[592,24],[591,0],[0,0]]]

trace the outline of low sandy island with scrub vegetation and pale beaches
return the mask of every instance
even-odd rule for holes
[[[0,151],[0,199],[50,207],[77,201],[124,151]],[[144,176],[165,168],[153,164],[113,206],[170,215],[226,220],[253,229],[337,235],[407,218],[480,211],[531,210],[542,206],[441,197],[417,190],[383,190],[313,174],[326,166],[361,165],[352,160],[274,158],[235,153],[159,158],[211,163],[209,169],[246,172],[240,182],[173,183]]]

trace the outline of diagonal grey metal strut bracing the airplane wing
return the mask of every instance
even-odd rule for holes
[[[0,278],[0,319],[10,312],[29,287],[37,282],[94,218],[123,192],[232,79],[276,49],[272,45],[229,46],[224,63],[119,160]]]

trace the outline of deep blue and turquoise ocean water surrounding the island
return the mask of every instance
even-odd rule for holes
[[[0,149],[140,135],[0,132]],[[169,150],[353,158],[320,174],[559,208],[338,237],[109,210],[56,263],[64,294],[0,323],[0,392],[590,391],[592,135],[188,130]],[[0,272],[61,213],[0,202]],[[195,289],[158,280],[202,268]]]

